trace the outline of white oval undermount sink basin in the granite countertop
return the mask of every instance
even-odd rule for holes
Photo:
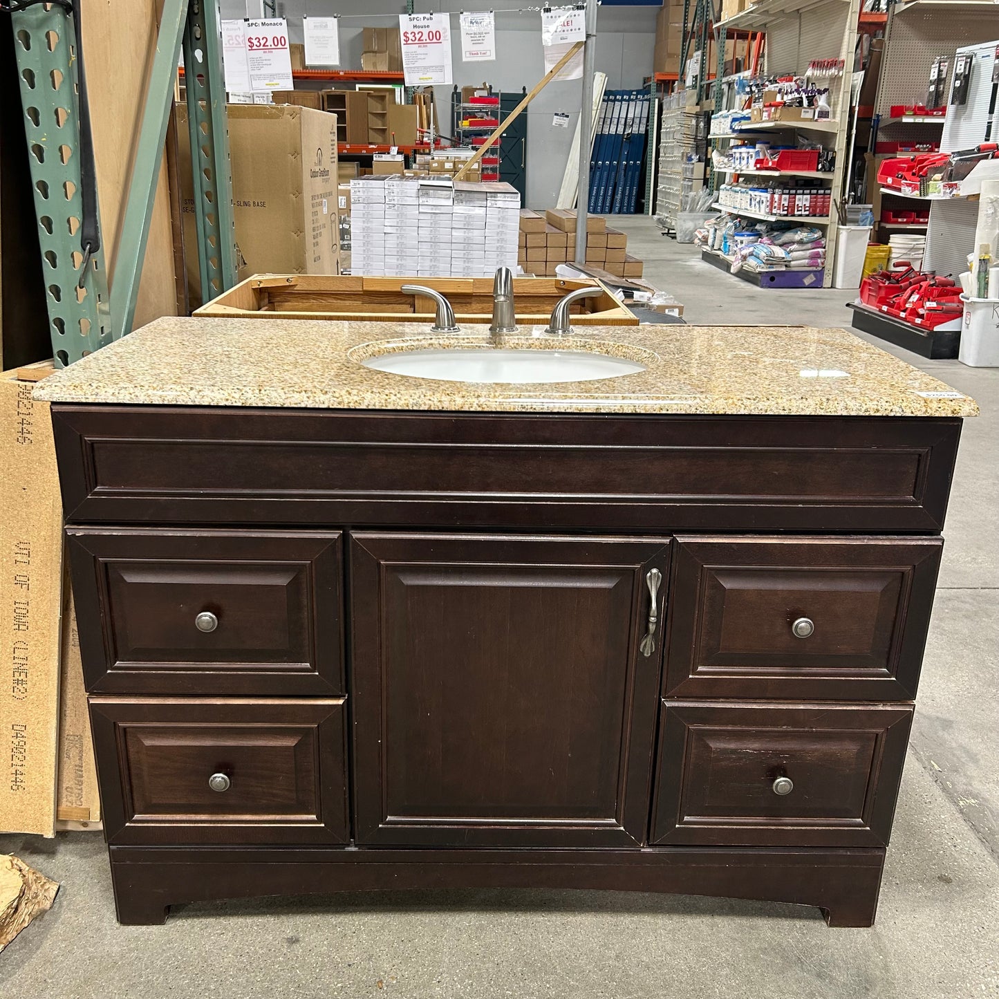
[[[645,371],[637,361],[588,351],[466,348],[399,351],[366,358],[366,368],[443,382],[536,385],[594,382]]]

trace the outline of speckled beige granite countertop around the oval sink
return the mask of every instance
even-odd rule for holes
[[[594,382],[483,385],[366,368],[392,350],[485,346],[485,326],[434,336],[424,324],[156,320],[41,382],[35,398],[141,406],[324,410],[973,417],[974,400],[845,330],[813,327],[541,327],[509,348],[589,350],[646,370]],[[532,336],[532,334],[534,334]]]

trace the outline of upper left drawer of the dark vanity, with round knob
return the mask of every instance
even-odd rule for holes
[[[345,692],[339,531],[67,535],[88,689]]]

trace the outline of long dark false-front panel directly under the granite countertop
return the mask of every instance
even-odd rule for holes
[[[53,408],[76,522],[936,532],[956,419]]]

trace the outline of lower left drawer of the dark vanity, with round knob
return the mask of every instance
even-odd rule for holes
[[[109,843],[346,843],[343,699],[91,697]]]

